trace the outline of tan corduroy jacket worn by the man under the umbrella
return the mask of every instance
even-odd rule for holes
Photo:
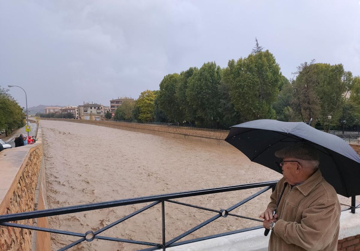
[[[269,250],[337,250],[341,208],[335,189],[320,170],[297,186],[280,179],[267,208],[274,210],[284,186]]]

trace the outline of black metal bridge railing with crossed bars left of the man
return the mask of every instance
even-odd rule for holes
[[[133,244],[140,244],[140,245],[144,245],[144,246],[150,246],[149,248],[141,249],[142,251],[161,250],[161,249],[166,250],[166,248],[168,248],[168,247],[184,245],[184,244],[188,244],[188,243],[203,241],[206,239],[212,239],[212,238],[216,238],[216,237],[220,237],[220,236],[227,236],[230,234],[246,232],[246,231],[250,231],[253,229],[262,228],[262,224],[261,224],[256,227],[244,228],[244,229],[239,229],[236,231],[225,232],[225,233],[220,233],[220,234],[215,234],[215,235],[211,235],[211,236],[195,238],[195,239],[190,239],[190,240],[179,242],[179,240],[181,240],[185,236],[188,236],[189,234],[193,233],[194,231],[197,231],[198,229],[204,227],[205,225],[213,222],[216,219],[222,218],[222,217],[225,218],[227,216],[233,216],[233,217],[238,217],[238,218],[247,219],[247,220],[253,220],[253,221],[262,223],[262,220],[243,216],[243,215],[233,214],[233,213],[231,213],[231,211],[233,211],[234,209],[238,208],[239,206],[245,204],[246,202],[252,200],[253,198],[257,197],[258,195],[261,195],[262,193],[268,191],[271,188],[274,190],[276,183],[277,183],[277,181],[258,182],[258,183],[251,183],[251,184],[241,184],[241,185],[236,185],[236,186],[208,188],[208,189],[193,190],[193,191],[186,191],[186,192],[176,192],[176,193],[168,193],[168,194],[162,194],[162,195],[153,195],[153,196],[128,198],[128,199],[115,200],[115,201],[98,202],[98,203],[92,203],[92,204],[86,204],[86,205],[59,207],[59,208],[54,208],[54,209],[29,211],[29,212],[24,212],[24,213],[6,214],[6,215],[0,215],[0,225],[6,226],[6,227],[24,228],[24,229],[30,229],[30,230],[35,230],[35,231],[44,231],[44,232],[65,234],[65,235],[69,235],[69,236],[80,237],[77,241],[72,242],[63,248],[60,248],[59,251],[67,250],[83,241],[90,242],[90,241],[93,241],[94,239],[102,239],[102,240],[107,240],[107,241],[125,242],[125,243],[133,243]],[[186,204],[186,203],[174,200],[177,198],[209,195],[209,194],[213,194],[213,193],[239,191],[239,190],[245,190],[245,189],[251,189],[251,188],[261,188],[261,187],[265,187],[265,188],[261,189],[260,191],[258,191],[256,193],[253,193],[251,196],[243,199],[242,201],[238,202],[237,204],[235,204],[231,207],[228,207],[227,209],[220,209],[220,210],[210,209],[207,207]],[[23,224],[18,224],[18,223],[10,223],[10,222],[18,221],[18,220],[26,220],[26,219],[54,216],[54,215],[70,214],[70,213],[84,212],[84,211],[89,211],[89,210],[104,209],[104,208],[109,208],[109,207],[126,206],[126,205],[134,205],[134,204],[149,203],[149,202],[150,202],[149,205],[147,205],[139,210],[136,210],[133,213],[126,215],[123,218],[118,219],[115,222],[113,222],[103,228],[100,228],[95,232],[90,230],[90,231],[87,231],[86,233],[77,233],[77,232],[71,232],[71,231],[42,228],[42,227],[31,226],[31,225],[23,225]],[[179,236],[166,241],[166,238],[165,238],[166,237],[166,235],[165,235],[165,230],[166,230],[165,202],[210,211],[210,212],[214,213],[215,215],[212,216],[210,219],[207,219],[206,221],[202,222],[201,224],[198,224],[197,226],[180,234]],[[141,212],[143,212],[155,205],[158,205],[158,204],[161,204],[161,211],[162,211],[162,243],[136,241],[136,240],[131,240],[131,239],[114,238],[114,237],[100,235],[100,233],[104,232],[105,230],[107,230],[111,227],[114,227],[115,225],[117,225],[121,222],[124,222],[125,220],[131,218],[132,216],[140,214]]]

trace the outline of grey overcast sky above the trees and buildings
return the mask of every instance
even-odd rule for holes
[[[108,106],[168,73],[226,67],[255,37],[287,78],[311,59],[360,75],[359,0],[15,0],[0,1],[0,86],[23,87],[28,107]],[[21,89],[10,94],[25,106]]]

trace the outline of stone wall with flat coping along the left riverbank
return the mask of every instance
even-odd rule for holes
[[[44,169],[41,128],[38,133],[39,141],[35,144],[0,152],[0,215],[47,208],[45,175],[40,175]],[[48,227],[47,218],[14,223]],[[41,232],[35,236],[35,232],[0,227],[0,250],[50,250],[50,234]],[[35,239],[44,245],[35,248]]]

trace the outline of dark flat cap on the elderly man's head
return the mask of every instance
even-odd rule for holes
[[[296,158],[300,160],[319,160],[319,153],[310,143],[298,142],[276,151],[278,158]]]

